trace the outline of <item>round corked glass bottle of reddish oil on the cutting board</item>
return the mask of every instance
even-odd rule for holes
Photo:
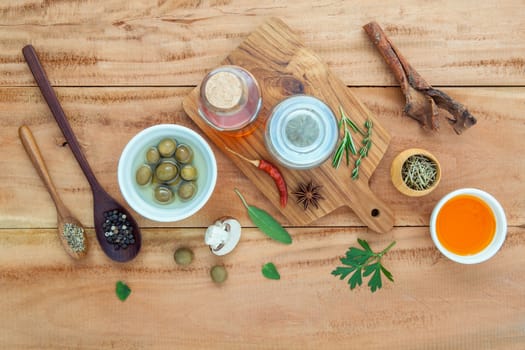
[[[251,133],[261,105],[259,84],[242,67],[218,67],[202,81],[199,115],[218,131],[232,136]]]

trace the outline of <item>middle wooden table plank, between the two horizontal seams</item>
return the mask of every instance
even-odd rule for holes
[[[478,117],[478,125],[462,136],[445,127],[437,133],[421,129],[417,122],[403,115],[404,98],[397,88],[350,90],[392,135],[390,147],[374,172],[370,187],[394,209],[396,226],[428,225],[437,201],[460,187],[478,187],[492,193],[503,205],[510,225],[525,224],[525,162],[516,158],[523,150],[522,135],[525,135],[522,120],[525,89],[446,89]],[[190,91],[190,88],[165,87],[58,88],[57,95],[95,175],[112,196],[124,203],[116,169],[120,153],[133,135],[148,126],[166,122],[191,127],[204,135],[182,111],[182,100]],[[54,227],[56,224],[51,199],[18,140],[17,129],[24,123],[33,130],[65,204],[82,223],[92,227],[89,185],[67,145],[64,146],[65,140],[38,89],[1,88],[0,102],[3,106],[0,109],[0,149],[4,155],[9,155],[0,158],[3,169],[0,173],[0,227]],[[229,158],[215,145],[211,146],[219,167],[216,191],[198,215],[166,225],[200,227],[225,214],[240,218],[243,225],[252,225],[233,192],[234,187],[238,187],[250,203],[290,225]],[[414,146],[425,148],[438,158],[443,178],[428,196],[408,199],[392,185],[390,165],[398,153]],[[517,150],[517,153],[509,150]],[[505,181],[501,181],[503,178]],[[30,217],[27,210],[30,210]],[[158,226],[155,222],[138,219],[141,226]],[[312,225],[356,226],[361,225],[361,221],[351,210],[342,208]]]

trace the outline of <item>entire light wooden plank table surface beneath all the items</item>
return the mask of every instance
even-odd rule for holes
[[[120,1],[13,0],[0,4],[0,347],[3,349],[362,348],[523,349],[525,344],[525,26],[523,1]],[[198,130],[183,98],[268,17],[293,28],[391,133],[371,188],[395,227],[371,232],[349,209],[293,227],[217,147],[217,188],[191,218],[139,218],[143,249],[130,263],[98,247],[92,197],[21,49],[33,44],[102,185],[117,199],[116,168],[126,142],[159,123]],[[464,103],[478,124],[461,136],[446,125],[422,130],[403,115],[404,98],[362,30],[376,20],[431,84]],[[29,125],[64,201],[88,227],[90,251],[73,261],[56,236],[50,196],[17,135]],[[393,187],[392,159],[409,147],[443,167],[433,193],[408,198]],[[233,192],[290,231],[284,246],[253,228]],[[508,236],[490,261],[463,266],[430,238],[433,206],[446,193],[477,187],[503,205]],[[292,203],[293,204],[293,203]],[[244,231],[236,250],[216,257],[204,228],[223,215]],[[382,249],[395,282],[372,294],[330,275],[357,238]],[[195,260],[179,268],[173,252]],[[273,261],[282,279],[264,279]],[[214,285],[209,268],[225,264]],[[115,282],[132,289],[127,301]]]

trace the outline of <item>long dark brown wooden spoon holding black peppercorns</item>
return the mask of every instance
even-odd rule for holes
[[[71,151],[75,155],[80,168],[82,168],[82,171],[84,172],[84,175],[91,186],[91,191],[93,192],[95,232],[100,247],[108,257],[115,261],[126,262],[133,259],[140,251],[142,244],[142,237],[137,222],[129,214],[126,208],[120,205],[104,190],[104,188],[96,179],[95,174],[91,170],[86,158],[84,157],[84,154],[82,153],[80,144],[73,133],[73,129],[66,118],[64,110],[60,106],[55,91],[49,83],[44,68],[40,63],[33,46],[25,46],[22,49],[22,53],[24,54],[26,62],[29,65],[33,76],[35,77],[36,83],[38,84],[38,87],[40,88],[40,91],[42,92],[42,95],[44,96],[51,113],[55,117],[55,120],[62,130],[62,133],[64,134],[64,137],[71,148]],[[121,215],[125,215],[125,218],[132,228],[132,235],[134,236],[132,243],[127,241],[129,244],[126,244],[125,246],[121,245],[120,243],[118,245],[110,243],[106,237],[108,232],[108,228],[104,228],[104,223],[107,220],[106,216],[108,216],[108,213],[112,213],[115,210],[119,213],[119,217]],[[127,229],[129,229],[129,227]],[[112,233],[110,233],[110,235],[111,234]],[[118,236],[120,242],[120,235]]]

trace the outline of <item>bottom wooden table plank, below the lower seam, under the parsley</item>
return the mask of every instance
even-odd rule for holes
[[[291,229],[291,246],[243,230],[219,258],[202,229],[144,230],[144,250],[120,265],[93,244],[82,261],[53,230],[0,230],[0,347],[4,349],[521,349],[525,342],[525,230],[511,228],[487,264],[444,258],[428,229]],[[94,233],[89,240],[95,240]],[[371,294],[331,276],[356,238],[381,249],[395,282]],[[194,250],[186,268],[172,258]],[[272,261],[280,281],[265,279]],[[209,269],[224,264],[221,286]],[[131,287],[121,302],[115,282]]]

